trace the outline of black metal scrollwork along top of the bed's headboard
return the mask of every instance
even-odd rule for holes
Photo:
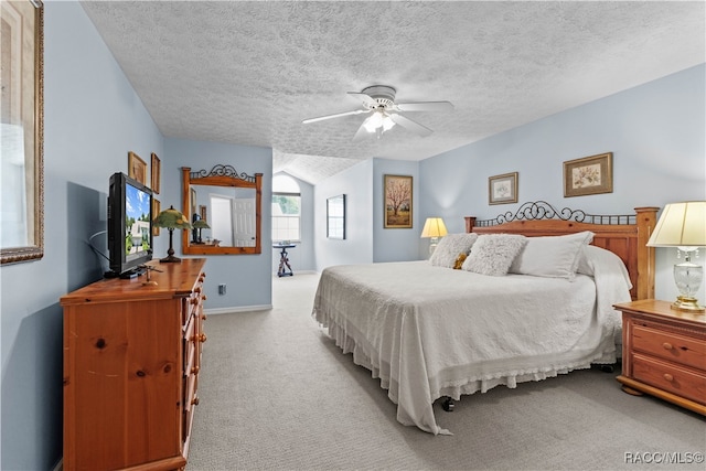
[[[634,224],[635,216],[632,214],[625,215],[599,215],[599,214],[586,214],[581,210],[571,210],[568,207],[561,211],[556,210],[546,201],[535,201],[523,203],[517,211],[513,214],[509,211],[504,214],[498,215],[493,220],[475,221],[478,227],[490,227],[499,224],[511,223],[513,221],[539,221],[539,220],[560,220],[560,221],[575,221],[577,223],[591,223],[591,224]]]

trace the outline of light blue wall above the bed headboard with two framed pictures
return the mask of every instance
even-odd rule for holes
[[[420,216],[449,232],[526,201],[595,214],[706,199],[705,73],[699,65],[420,162]],[[613,152],[613,192],[564,197],[563,162]],[[488,204],[488,178],[518,172],[518,204]],[[656,297],[674,299],[675,250],[656,249]],[[702,285],[700,300],[706,301]]]

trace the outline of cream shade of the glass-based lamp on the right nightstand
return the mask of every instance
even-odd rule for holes
[[[706,201],[686,201],[664,206],[648,246],[706,246]]]

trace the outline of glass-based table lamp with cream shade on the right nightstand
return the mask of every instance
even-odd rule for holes
[[[680,291],[672,309],[704,312],[696,300],[696,292],[704,279],[704,267],[692,263],[692,254],[698,258],[698,247],[706,246],[706,201],[687,201],[664,206],[654,227],[648,247],[676,247],[677,257],[684,253],[684,261],[674,266],[674,281]]]

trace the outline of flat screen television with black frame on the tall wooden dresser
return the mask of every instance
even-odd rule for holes
[[[152,259],[152,190],[120,172],[108,189],[108,253],[107,277],[139,275]]]

